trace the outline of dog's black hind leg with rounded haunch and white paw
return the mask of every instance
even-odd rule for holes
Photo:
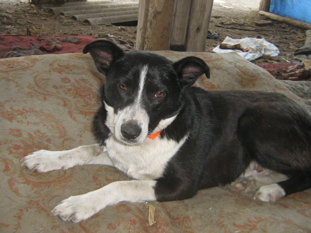
[[[239,140],[250,159],[289,177],[261,186],[254,199],[276,201],[311,188],[311,117],[285,100],[257,103],[239,119]]]

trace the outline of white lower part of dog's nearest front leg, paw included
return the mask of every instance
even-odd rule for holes
[[[53,210],[64,221],[80,222],[121,201],[155,201],[155,180],[116,181],[86,194],[71,196]]]

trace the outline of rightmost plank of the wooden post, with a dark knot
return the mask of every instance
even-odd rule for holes
[[[213,0],[192,1],[186,39],[186,51],[205,52],[206,34],[211,18],[212,7]]]

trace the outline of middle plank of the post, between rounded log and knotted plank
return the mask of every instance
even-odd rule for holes
[[[185,45],[191,0],[175,1],[171,45]]]

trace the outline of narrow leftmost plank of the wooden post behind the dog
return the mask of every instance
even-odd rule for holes
[[[136,50],[144,50],[150,0],[140,0],[136,33]]]

